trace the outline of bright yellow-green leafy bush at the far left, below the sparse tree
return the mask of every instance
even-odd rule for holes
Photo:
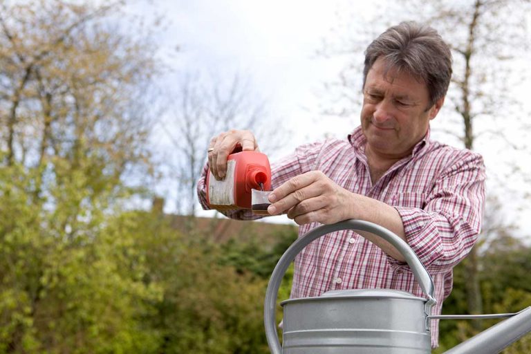
[[[116,252],[128,235],[59,232],[50,225],[68,210],[31,203],[23,167],[0,171],[0,353],[153,352],[157,332],[141,319],[161,292]]]

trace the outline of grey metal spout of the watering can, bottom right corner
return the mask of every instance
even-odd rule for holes
[[[531,307],[521,310],[516,315],[505,319],[467,341],[454,346],[445,354],[495,354],[516,342],[531,331]]]

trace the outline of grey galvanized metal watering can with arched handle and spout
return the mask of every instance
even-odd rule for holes
[[[406,259],[427,299],[390,289],[332,290],[320,297],[289,299],[281,303],[281,346],[275,308],[283,275],[306,245],[339,230],[371,232],[391,243]],[[406,242],[379,225],[347,220],[315,228],[283,254],[265,294],[265,335],[272,354],[425,354],[431,353],[431,319],[510,317],[445,353],[494,354],[531,331],[531,307],[516,314],[431,316],[434,304],[434,283]]]

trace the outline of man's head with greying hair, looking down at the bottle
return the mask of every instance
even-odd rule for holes
[[[451,53],[437,32],[414,22],[386,30],[366,50],[362,130],[366,153],[407,156],[443,106]]]

